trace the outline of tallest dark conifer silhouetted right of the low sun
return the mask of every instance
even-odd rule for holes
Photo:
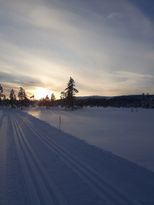
[[[67,88],[65,89],[66,94],[66,107],[74,109],[74,97],[75,94],[78,93],[78,90],[75,88],[75,81],[72,77],[70,77]]]

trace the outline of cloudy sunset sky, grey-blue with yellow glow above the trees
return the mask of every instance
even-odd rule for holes
[[[0,83],[60,96],[154,94],[153,0],[0,0]],[[44,92],[42,92],[44,90]]]

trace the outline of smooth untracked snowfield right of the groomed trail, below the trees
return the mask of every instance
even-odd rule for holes
[[[74,112],[33,108],[29,114],[103,150],[154,171],[154,109],[84,108]]]

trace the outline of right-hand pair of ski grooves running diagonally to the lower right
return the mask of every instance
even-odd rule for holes
[[[63,147],[59,146],[51,137],[48,135],[41,136],[38,130],[31,124],[30,120],[25,117],[18,117],[21,119],[22,125],[27,126],[35,136],[37,136],[42,143],[44,143],[49,149],[52,149],[60,158],[63,160],[68,167],[73,169],[82,180],[84,180],[88,185],[90,185],[94,191],[102,198],[106,199],[107,204],[116,205],[141,205],[138,201],[134,199],[129,199],[125,193],[117,188],[113,187],[111,184],[106,182],[100,174],[98,174],[94,169],[89,167],[87,164],[82,163],[76,157],[72,157],[71,153],[65,150]],[[41,129],[42,127],[39,127]],[[43,128],[42,128],[43,130]],[[44,129],[45,130],[45,129]],[[44,132],[45,133],[45,132]]]

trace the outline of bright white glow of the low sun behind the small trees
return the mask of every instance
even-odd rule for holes
[[[52,94],[52,92],[47,88],[37,87],[34,90],[34,97],[35,97],[35,99],[38,99],[38,100],[41,98],[45,98],[47,95],[50,98],[51,94]]]

